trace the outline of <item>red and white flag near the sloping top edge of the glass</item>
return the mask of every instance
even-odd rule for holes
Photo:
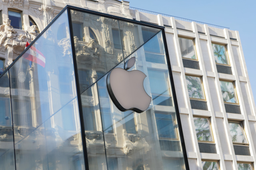
[[[28,47],[29,43],[26,43],[25,49]],[[45,57],[44,55],[38,51],[35,47],[31,46],[26,53],[23,54],[24,59],[28,59],[34,63],[37,63],[43,67],[45,67]]]

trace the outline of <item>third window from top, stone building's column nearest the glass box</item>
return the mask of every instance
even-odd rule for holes
[[[214,142],[210,118],[194,117],[194,125],[198,141]]]

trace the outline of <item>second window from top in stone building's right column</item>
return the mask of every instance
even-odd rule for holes
[[[224,103],[238,104],[234,82],[220,81],[220,88],[221,88]]]

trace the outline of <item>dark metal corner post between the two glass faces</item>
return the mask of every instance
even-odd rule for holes
[[[69,29],[70,41],[71,41],[71,48],[72,48],[72,54],[73,54],[74,73],[75,73],[75,79],[76,79],[76,92],[77,92],[78,108],[79,108],[79,116],[80,116],[82,146],[83,146],[83,153],[84,153],[84,164],[85,164],[85,169],[89,170],[88,153],[87,153],[86,137],[85,137],[85,129],[84,129],[84,117],[83,117],[83,111],[82,111],[82,100],[81,100],[81,93],[80,93],[80,87],[79,87],[78,69],[77,69],[77,63],[76,63],[76,50],[74,47],[72,18],[71,18],[71,14],[70,14],[70,9],[67,8],[67,10],[68,10],[68,24],[69,24],[69,28],[70,28]]]

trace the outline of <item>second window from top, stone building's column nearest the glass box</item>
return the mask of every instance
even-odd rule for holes
[[[186,75],[186,83],[190,99],[205,100],[202,77]]]

